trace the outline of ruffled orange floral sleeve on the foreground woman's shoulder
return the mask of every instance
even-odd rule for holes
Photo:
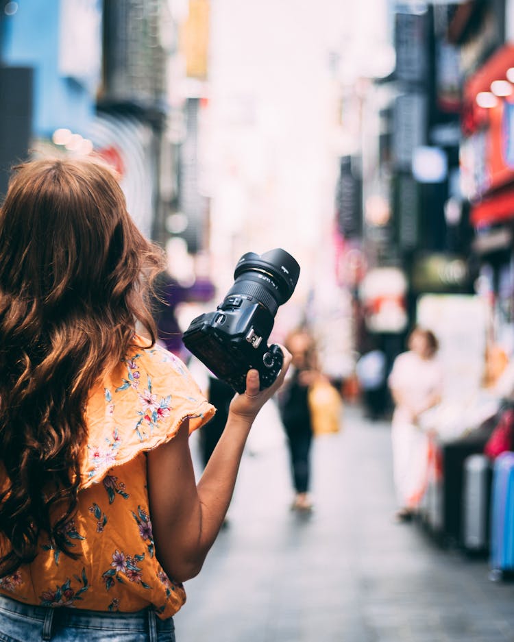
[[[184,419],[193,432],[214,414],[178,357],[159,346],[134,350],[89,399],[81,488],[173,439]]]

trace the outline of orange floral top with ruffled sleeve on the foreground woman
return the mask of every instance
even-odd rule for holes
[[[162,619],[186,600],[155,554],[145,451],[212,417],[184,364],[136,337],[130,358],[90,395],[82,487],[66,540],[76,560],[40,538],[34,562],[0,580],[0,593],[41,606],[130,612],[152,606]],[[177,480],[180,483],[180,480]],[[1,542],[0,542],[1,544]],[[0,545],[5,551],[5,542]]]

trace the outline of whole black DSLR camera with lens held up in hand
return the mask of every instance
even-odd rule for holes
[[[201,314],[184,332],[184,345],[219,379],[238,393],[255,368],[260,389],[276,380],[284,355],[267,345],[278,306],[295,291],[299,265],[283,249],[262,256],[247,252],[238,260],[234,285],[215,312]]]

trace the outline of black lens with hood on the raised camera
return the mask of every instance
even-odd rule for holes
[[[271,249],[261,255],[247,252],[237,262],[235,282],[227,297],[255,297],[274,317],[278,306],[295,291],[298,277],[299,264],[284,249]]]

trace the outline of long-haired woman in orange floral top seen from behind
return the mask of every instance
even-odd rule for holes
[[[10,641],[174,640],[182,582],[215,541],[249,429],[289,365],[285,353],[265,391],[249,371],[197,485],[188,435],[214,408],[155,345],[147,293],[161,266],[105,166],[16,169],[0,210],[0,631]]]

